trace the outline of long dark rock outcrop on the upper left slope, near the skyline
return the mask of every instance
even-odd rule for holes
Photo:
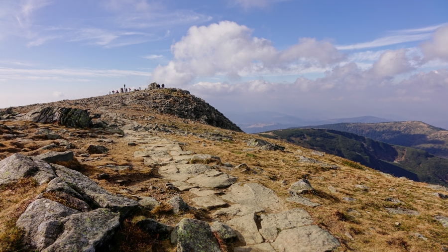
[[[89,127],[92,125],[90,113],[87,110],[60,107],[37,108],[28,112],[20,120],[43,124],[59,122],[61,125],[68,127]]]

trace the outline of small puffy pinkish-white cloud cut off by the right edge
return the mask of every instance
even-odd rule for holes
[[[441,59],[448,61],[448,25],[442,26],[433,34],[432,41],[421,45],[425,60]]]

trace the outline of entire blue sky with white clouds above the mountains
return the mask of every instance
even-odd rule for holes
[[[2,0],[0,108],[157,81],[224,112],[443,125],[447,13],[446,0]]]

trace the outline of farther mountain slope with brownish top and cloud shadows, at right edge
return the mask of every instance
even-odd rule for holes
[[[355,133],[390,144],[422,149],[448,159],[448,130],[423,122],[391,122],[378,124],[339,123],[300,128],[327,128]]]

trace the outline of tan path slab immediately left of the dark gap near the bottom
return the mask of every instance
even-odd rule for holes
[[[256,215],[254,213],[231,219],[225,224],[236,231],[238,240],[246,245],[260,244],[263,237],[258,233],[257,224],[255,223]]]

